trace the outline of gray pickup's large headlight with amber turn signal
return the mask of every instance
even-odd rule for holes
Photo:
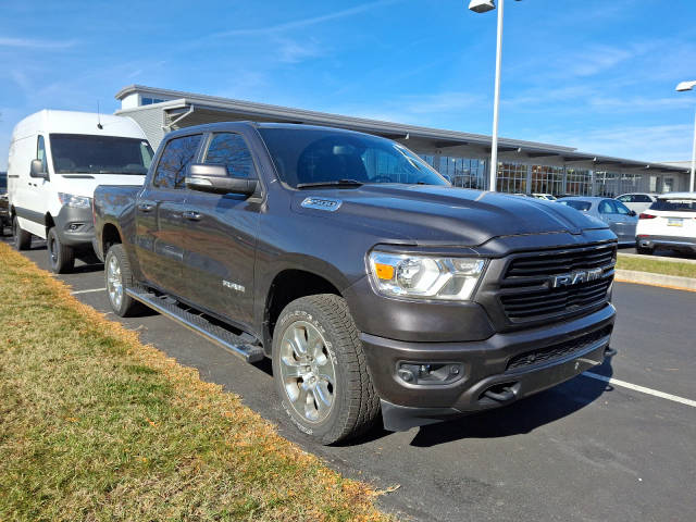
[[[386,296],[465,301],[471,299],[486,266],[484,259],[370,253],[375,287]]]

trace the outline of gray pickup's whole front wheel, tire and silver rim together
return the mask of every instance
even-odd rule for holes
[[[358,328],[339,296],[285,307],[273,334],[273,378],[290,421],[321,444],[364,433],[380,413]]]

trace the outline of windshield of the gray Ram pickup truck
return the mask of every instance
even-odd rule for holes
[[[403,183],[449,185],[406,147],[385,138],[315,128],[261,127],[281,179],[303,184]]]

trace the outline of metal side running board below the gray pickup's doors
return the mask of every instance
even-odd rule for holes
[[[126,288],[126,294],[247,362],[258,362],[264,358],[263,349],[259,345],[252,344],[251,336],[236,335],[220,324],[206,319],[204,315],[194,313],[196,312],[194,309],[181,304],[169,296],[157,296],[139,288]]]

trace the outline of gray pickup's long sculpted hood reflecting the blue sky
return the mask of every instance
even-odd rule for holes
[[[301,202],[308,197],[338,200],[340,206],[332,211],[304,208]],[[432,185],[302,190],[294,207],[419,245],[478,246],[499,236],[607,228],[604,222],[554,201]]]

